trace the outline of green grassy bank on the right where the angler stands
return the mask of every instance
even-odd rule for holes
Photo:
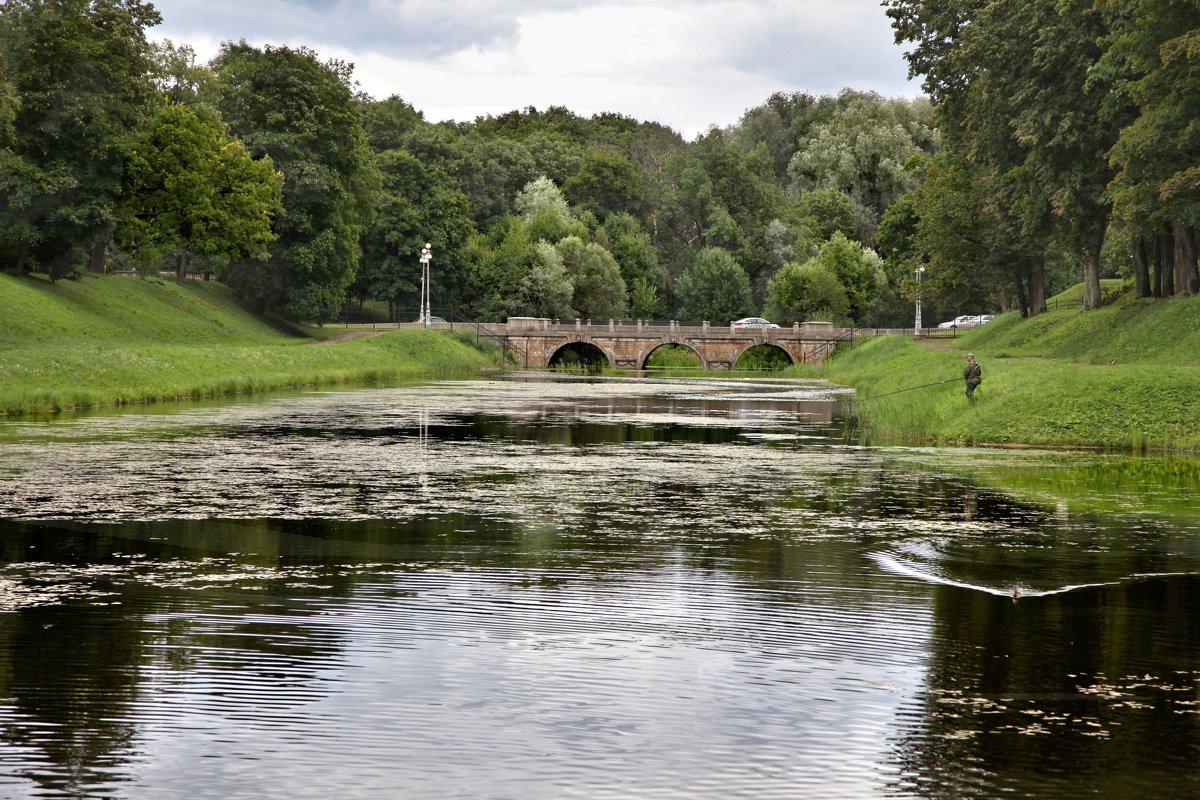
[[[1080,308],[1075,288],[1031,319],[1003,314],[949,342],[880,337],[793,372],[853,386],[876,440],[1200,451],[1200,297],[1104,289],[1096,311]],[[984,375],[973,405],[961,380],[968,350]]]

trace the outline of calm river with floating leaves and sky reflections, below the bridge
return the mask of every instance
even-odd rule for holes
[[[1194,461],[829,387],[0,422],[0,796],[1200,796]]]

